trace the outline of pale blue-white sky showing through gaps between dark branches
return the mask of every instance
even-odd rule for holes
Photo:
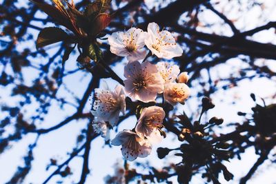
[[[19,0],[19,2],[20,6],[26,6],[27,0]],[[229,3],[226,0],[221,1],[215,7],[219,11],[224,10],[225,12],[228,12],[228,17],[230,19],[239,19],[238,21],[234,22],[235,25],[237,25],[238,29],[250,30],[251,28],[255,28],[258,25],[263,25],[268,21],[276,21],[276,11],[271,10],[271,8],[275,8],[276,1],[264,0],[262,2],[264,2],[264,5],[266,6],[266,11],[262,12],[261,10],[255,8],[254,10],[250,10],[250,12],[246,12],[246,14],[238,14],[238,10],[234,9],[231,11],[226,10],[228,6],[224,5],[226,3]],[[152,6],[153,2],[148,1],[147,3],[148,6]],[[233,2],[233,4],[235,4],[235,2]],[[36,14],[36,16],[45,17],[45,15],[42,13]],[[213,14],[210,11],[204,11],[204,13],[199,14],[199,17],[205,23],[217,23],[221,21],[215,14]],[[37,22],[33,23],[37,24]],[[48,25],[53,24],[49,23]],[[42,28],[48,25],[37,26],[40,26]],[[231,35],[230,29],[227,26],[224,26],[222,28],[219,28],[219,26],[220,24],[213,25],[212,30],[210,30],[210,28],[208,28],[207,30],[203,27],[199,28],[198,30],[202,32],[215,32],[216,34],[223,34],[227,36]],[[37,37],[38,32],[31,29],[30,31],[33,32],[34,37]],[[258,34],[255,34],[252,37],[252,39],[264,43],[271,41],[273,43],[276,43],[274,31],[275,30],[270,29],[263,32],[259,32]],[[35,50],[34,43],[19,45],[19,49],[23,49],[26,47]],[[59,44],[50,46],[49,48],[51,49],[49,49],[48,52],[54,53],[58,47]],[[69,61],[66,63],[66,71],[75,70],[77,68],[75,61],[76,56],[70,57]],[[32,60],[32,62],[33,65],[38,65],[39,63],[46,63],[47,59],[35,59]],[[273,63],[275,61],[263,61],[262,59],[259,59],[259,62],[266,62],[267,65],[269,65],[269,67],[276,72],[276,65],[275,63]],[[125,64],[126,60],[123,60],[121,63],[113,66],[115,72],[117,72],[117,74],[121,76],[122,79],[124,79],[122,71]],[[240,59],[230,59],[225,64],[218,65],[217,68],[211,70],[211,74],[214,78],[217,76],[224,78],[228,76],[229,72],[237,72],[241,66],[246,67],[246,63],[243,63],[242,61],[240,61]],[[2,70],[1,67],[2,66],[0,66],[0,69]],[[32,79],[34,79],[37,74],[35,72],[29,71],[31,71],[31,69],[23,69],[23,76],[26,79],[27,83],[28,81],[29,83],[31,83]],[[83,92],[86,90],[88,82],[91,79],[90,74],[83,74],[84,72],[80,71],[76,72],[75,74],[68,75],[63,79],[63,83],[66,83],[67,88],[73,91],[75,93],[75,96],[79,96],[80,98],[83,95]],[[202,75],[204,75],[204,73],[202,73]],[[242,117],[237,116],[237,112],[244,112],[246,110],[246,112],[250,112],[250,108],[253,107],[253,105],[255,105],[252,99],[250,99],[250,93],[254,92],[256,96],[263,97],[265,99],[266,97],[272,96],[276,92],[275,80],[276,79],[272,79],[271,81],[268,81],[267,79],[253,79],[252,81],[249,81],[246,79],[242,82],[239,82],[236,88],[231,88],[230,90],[226,91],[219,90],[215,92],[215,94],[213,94],[211,97],[216,107],[208,113],[208,117],[221,116],[222,118],[224,118],[226,123],[241,122]],[[117,82],[112,81],[112,79],[106,79],[105,81],[108,83],[110,89],[115,88],[115,85],[117,85]],[[195,84],[193,83],[193,85]],[[16,105],[18,98],[11,98],[10,92],[6,88],[5,91],[3,90],[4,88],[2,86],[0,88],[1,103]],[[197,93],[198,88],[195,85],[194,88],[191,88],[191,90],[193,96],[190,99],[188,99],[186,105],[179,105],[179,113],[182,110],[186,110],[186,112],[190,112],[190,110],[193,110],[193,112],[198,112],[198,105],[200,99],[196,99],[194,97]],[[70,95],[67,93],[67,90],[64,88],[59,91],[57,96],[67,96],[66,100],[75,103],[75,100],[70,99]],[[235,104],[233,104],[233,99]],[[269,99],[266,99],[266,101],[268,103],[271,103]],[[258,102],[261,103],[260,100],[258,100]],[[70,105],[66,105],[63,110],[60,110],[55,106],[57,105],[53,105],[53,108],[50,109],[50,115],[46,116],[45,121],[39,125],[40,127],[51,127],[52,125],[56,125],[57,123],[65,119],[68,116],[68,114],[73,114],[75,112],[75,108],[72,108]],[[28,114],[34,112],[36,107],[37,104],[34,104],[33,110],[28,109],[24,110],[23,112],[26,113],[26,115],[28,116]],[[83,112],[89,112],[90,108],[90,103],[87,103],[86,108],[83,110]],[[2,118],[2,116],[3,115],[0,114],[0,119]],[[195,116],[195,119],[197,119],[197,116]],[[206,119],[208,118],[206,117]],[[120,131],[124,129],[132,129],[136,121],[137,119],[135,118],[135,116],[131,116],[129,119],[126,119],[126,121],[119,125],[118,130]],[[39,137],[37,147],[34,149],[34,161],[32,162],[32,170],[30,171],[28,176],[26,176],[24,183],[36,184],[45,181],[45,179],[56,170],[56,167],[50,167],[50,169],[46,171],[46,166],[50,163],[50,159],[57,159],[59,163],[63,163],[63,161],[65,161],[68,158],[68,153],[72,151],[72,147],[75,147],[77,135],[81,132],[83,128],[86,128],[87,123],[87,121],[83,120],[72,121],[68,123],[68,125],[61,127],[59,130],[55,130],[48,134],[41,135]],[[225,128],[224,130],[219,131],[226,133],[230,132],[231,129]],[[14,172],[17,170],[17,166],[23,165],[22,157],[26,154],[28,150],[28,145],[34,143],[34,139],[36,139],[36,136],[36,134],[28,134],[24,136],[21,141],[19,141],[18,143],[12,143],[10,149],[6,150],[4,154],[0,155],[0,183],[6,183],[7,181],[9,181]],[[115,132],[112,132],[111,137],[114,136]],[[168,157],[169,159],[167,160],[158,159],[156,154],[157,147],[177,147],[177,145],[179,144],[177,142],[178,141],[174,135],[168,134],[168,137],[164,139],[164,141],[162,141],[159,145],[153,146],[152,153],[150,154],[150,156],[147,157],[147,159],[139,158],[137,159],[137,162],[146,163],[146,161],[150,161],[150,165],[157,168],[160,168],[160,166],[163,165],[163,163],[178,163],[180,160],[179,158],[176,158],[176,156],[173,156],[173,153],[170,153]],[[231,181],[230,183],[237,183],[237,181],[239,181],[239,178],[244,176],[248,172],[248,170],[253,165],[253,163],[255,163],[256,160],[257,156],[255,155],[255,150],[253,148],[250,148],[246,150],[245,154],[242,154],[242,161],[233,159],[230,163],[226,163],[228,170],[230,172],[233,172],[235,176],[234,181]],[[117,161],[123,163],[123,158],[121,156],[119,147],[109,147],[108,145],[104,145],[104,141],[101,137],[98,137],[97,139],[95,139],[95,141],[92,141],[89,159],[89,166],[91,171],[88,175],[86,183],[103,183],[104,176],[108,174],[112,175],[114,173],[114,168],[112,166]],[[49,183],[57,183],[57,181],[63,181],[63,183],[77,183],[81,175],[82,162],[82,157],[77,156],[69,163],[73,175],[62,179],[61,176],[57,175],[52,177]],[[267,167],[267,165],[269,166]],[[141,169],[140,171],[143,172],[143,170]],[[273,176],[275,172],[275,165],[270,165],[270,162],[266,161],[264,165],[259,167],[259,170],[257,170],[254,177],[250,181],[248,181],[248,183],[273,184],[275,183],[275,176]],[[176,178],[171,178],[171,180],[174,181],[174,183],[176,182]],[[219,181],[221,181],[221,183],[226,183],[226,181],[224,181],[224,178],[221,177],[219,178]],[[202,183],[201,176],[198,175],[193,177],[192,183]]]

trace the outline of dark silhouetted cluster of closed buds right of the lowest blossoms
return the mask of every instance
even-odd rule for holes
[[[211,100],[204,97],[202,99],[201,115],[214,107],[215,105]],[[209,135],[209,131],[205,132],[213,125],[221,125],[224,120],[213,117],[208,122],[201,123],[200,116],[198,121],[192,123],[186,114],[177,116],[177,118],[180,121],[176,122],[181,123],[178,139],[184,143],[175,149],[159,147],[157,154],[159,159],[164,159],[172,151],[177,151],[175,155],[181,156],[182,161],[177,164],[176,168],[179,183],[188,183],[191,176],[197,173],[201,167],[205,167],[206,170],[206,173],[203,173],[202,176],[211,179],[214,183],[219,183],[217,178],[221,171],[226,181],[232,179],[233,174],[228,172],[226,166],[221,163],[221,161],[228,161],[233,156],[233,153],[229,150],[230,144],[213,138]],[[217,167],[218,165],[219,167]]]

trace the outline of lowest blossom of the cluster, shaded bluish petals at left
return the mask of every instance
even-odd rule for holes
[[[150,143],[131,130],[119,132],[112,145],[121,145],[121,154],[128,161],[134,161],[137,157],[144,158],[151,152]]]

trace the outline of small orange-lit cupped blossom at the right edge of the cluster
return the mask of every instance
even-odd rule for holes
[[[184,103],[189,95],[190,88],[185,83],[168,83],[164,89],[164,98],[172,105]]]

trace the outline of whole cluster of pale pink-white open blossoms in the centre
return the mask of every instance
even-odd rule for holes
[[[133,101],[148,103],[163,94],[167,103],[176,105],[184,103],[190,94],[186,85],[188,74],[180,73],[177,65],[166,61],[156,64],[147,61],[149,54],[146,53],[145,45],[150,50],[149,53],[160,59],[172,59],[183,53],[172,34],[167,30],[159,31],[157,23],[149,23],[148,32],[130,28],[126,32],[112,33],[108,43],[110,51],[117,56],[126,57],[128,64],[124,67],[124,87],[117,85],[114,91],[95,89],[93,127],[106,141],[110,139],[110,129],[119,121],[119,114],[124,115],[126,112],[126,96]],[[121,152],[128,161],[148,156],[152,144],[159,143],[162,139],[161,128],[164,127],[162,123],[165,116],[164,109],[159,106],[142,108],[135,127],[119,132],[111,144],[121,145]]]

